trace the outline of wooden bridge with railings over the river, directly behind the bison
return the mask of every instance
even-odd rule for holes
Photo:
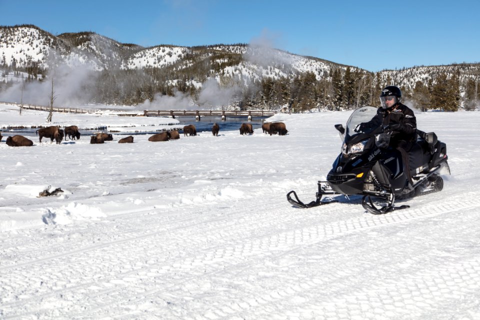
[[[271,110],[143,110],[144,116],[194,116],[197,121],[201,116],[221,116],[224,121],[227,116],[246,116],[251,120],[252,116],[272,116],[277,111]]]

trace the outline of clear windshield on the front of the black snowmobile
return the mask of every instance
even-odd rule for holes
[[[370,120],[376,115],[377,110],[374,106],[363,106],[353,111],[346,122],[344,141],[348,143],[374,131],[378,126]]]

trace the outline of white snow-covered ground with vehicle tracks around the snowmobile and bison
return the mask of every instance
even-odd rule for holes
[[[398,201],[410,208],[372,215],[358,196],[293,208],[285,194],[314,199],[349,114],[275,115],[285,136],[220,123],[218,137],[125,144],[113,133],[9,147],[2,130],[0,317],[480,318],[480,113],[416,111],[452,174],[439,193]],[[46,115],[0,104],[1,126]],[[53,120],[134,131],[160,118]]]

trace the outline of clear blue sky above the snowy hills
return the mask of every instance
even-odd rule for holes
[[[264,42],[369,71],[480,62],[478,0],[0,0],[0,24],[123,43]]]

